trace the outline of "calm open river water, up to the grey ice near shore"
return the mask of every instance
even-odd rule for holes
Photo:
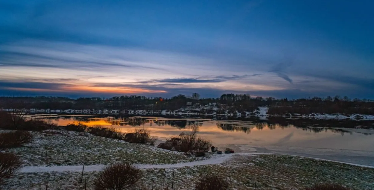
[[[116,127],[122,132],[144,127],[151,135],[167,138],[197,129],[199,135],[214,144],[285,146],[374,151],[372,121],[313,121],[275,118],[270,120],[170,119],[163,117],[107,117],[98,115],[30,115],[57,125],[81,122],[88,126]],[[329,127],[329,128],[321,128]],[[351,129],[330,129],[331,127]],[[364,128],[366,134],[352,128]],[[368,130],[370,129],[370,130]]]

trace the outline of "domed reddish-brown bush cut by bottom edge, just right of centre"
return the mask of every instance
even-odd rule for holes
[[[230,186],[226,180],[217,175],[206,175],[201,178],[196,186],[196,190],[229,190]]]

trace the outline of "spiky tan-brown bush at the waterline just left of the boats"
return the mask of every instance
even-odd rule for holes
[[[182,152],[188,152],[189,150],[198,152],[208,151],[212,146],[210,141],[197,137],[196,131],[183,132],[178,137],[167,139],[166,143],[172,143],[173,147],[178,147]]]

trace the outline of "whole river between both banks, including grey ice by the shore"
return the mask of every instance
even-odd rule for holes
[[[374,167],[374,121],[316,120],[302,118],[256,117],[188,118],[186,116],[121,116],[33,114],[56,125],[81,122],[88,126],[113,127],[131,132],[148,129],[159,141],[181,132],[197,130],[200,137],[219,150],[232,148],[239,153],[287,154]]]

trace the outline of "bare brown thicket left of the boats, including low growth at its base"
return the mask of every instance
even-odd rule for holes
[[[193,151],[195,156],[205,156],[205,152],[211,148],[210,141],[197,137],[196,131],[183,132],[177,137],[166,139],[165,143],[160,143],[157,147],[181,152]]]

